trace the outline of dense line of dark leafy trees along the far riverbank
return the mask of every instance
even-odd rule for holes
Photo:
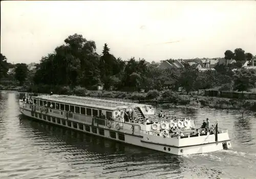
[[[233,72],[239,67],[234,65],[217,65],[216,70],[198,71],[184,63],[184,68],[160,69],[155,62],[148,63],[144,59],[129,60],[116,58],[111,54],[108,44],[104,44],[102,54],[96,53],[96,44],[82,35],[70,35],[65,44],[55,48],[54,52],[42,57],[33,77],[33,84],[56,86],[76,86],[86,89],[97,89],[103,85],[105,90],[121,91],[162,90],[166,81],[171,81],[170,88],[174,91],[182,87],[187,93],[199,89],[224,86],[230,90],[246,91],[255,86],[256,73],[243,69]],[[225,59],[250,61],[252,54],[237,48],[234,53],[226,50]],[[3,60],[2,60],[3,59]],[[172,60],[172,59],[169,59]],[[6,74],[6,58],[1,54],[1,75]],[[18,64],[15,71],[16,80],[22,85],[28,76],[24,64]],[[8,70],[8,69],[7,69]],[[28,78],[31,79],[31,78]]]

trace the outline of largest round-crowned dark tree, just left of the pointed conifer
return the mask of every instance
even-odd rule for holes
[[[100,83],[95,42],[78,34],[68,36],[64,42],[52,54],[42,57],[34,82],[94,88]]]

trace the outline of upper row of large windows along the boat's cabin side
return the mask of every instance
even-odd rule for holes
[[[91,109],[91,108],[84,108],[79,106],[73,105],[64,105],[60,103],[54,103],[46,100],[38,100],[34,99],[34,104],[38,104],[39,106],[47,106],[50,107],[52,105],[52,109],[62,110],[62,111],[70,111],[72,113],[83,114],[88,116],[100,116],[102,114],[101,110]],[[106,118],[112,117],[112,112],[106,111]]]

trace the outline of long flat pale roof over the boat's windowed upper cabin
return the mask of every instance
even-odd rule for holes
[[[151,105],[127,103],[116,100],[106,100],[92,97],[81,97],[81,96],[68,96],[68,95],[39,95],[33,97],[34,99],[54,101],[56,103],[71,104],[77,106],[93,107],[106,110],[118,110],[129,107],[152,107]]]

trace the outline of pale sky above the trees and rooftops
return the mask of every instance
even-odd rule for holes
[[[123,60],[256,55],[256,1],[1,1],[10,63],[39,62],[75,33]]]

